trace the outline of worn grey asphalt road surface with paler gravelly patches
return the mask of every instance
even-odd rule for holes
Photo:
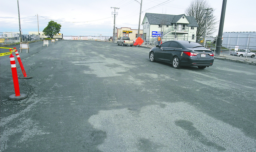
[[[232,56],[175,69],[150,62],[147,47],[73,40],[19,55],[33,77],[18,79],[28,97],[10,100],[1,56],[0,151],[256,151],[255,66]]]

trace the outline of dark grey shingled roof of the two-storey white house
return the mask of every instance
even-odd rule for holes
[[[181,19],[182,16],[185,16],[189,22],[189,26],[195,26],[195,27],[199,26],[194,16],[186,16],[185,14],[169,15],[169,14],[146,13],[145,16],[148,18],[149,24],[157,24],[157,25],[158,24],[164,24],[164,25],[175,24]]]

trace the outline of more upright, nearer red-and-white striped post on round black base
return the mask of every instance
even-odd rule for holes
[[[9,99],[10,100],[25,99],[28,95],[20,93],[15,59],[14,59],[14,56],[12,54],[10,55],[10,61],[11,61],[11,73],[12,73],[12,79],[13,79],[15,94],[10,95]]]

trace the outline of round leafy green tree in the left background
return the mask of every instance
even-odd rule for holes
[[[60,31],[61,25],[57,22],[50,21],[48,25],[44,28],[43,32],[46,36],[53,38],[53,35],[56,35]]]

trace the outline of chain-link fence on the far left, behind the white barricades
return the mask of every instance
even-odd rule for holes
[[[22,42],[40,40],[36,34],[22,34]],[[8,45],[20,42],[20,34],[15,32],[0,32],[0,45]]]

